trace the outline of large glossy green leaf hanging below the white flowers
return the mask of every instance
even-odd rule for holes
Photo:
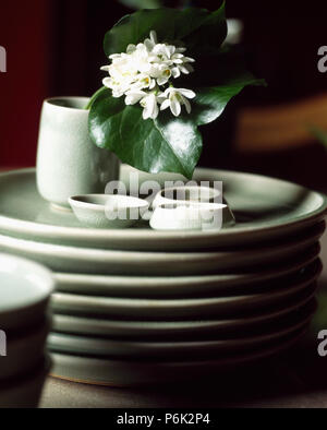
[[[125,106],[110,92],[93,103],[89,133],[96,145],[152,174],[171,171],[192,178],[202,152],[202,136],[191,118],[160,112],[155,121],[144,120],[140,106]]]

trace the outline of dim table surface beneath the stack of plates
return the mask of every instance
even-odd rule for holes
[[[322,249],[324,262],[327,232]],[[327,267],[319,285],[319,309],[310,333],[289,351],[246,372],[233,372],[223,380],[148,389],[111,389],[48,378],[40,407],[327,407],[327,357],[317,354],[317,333],[327,330]]]

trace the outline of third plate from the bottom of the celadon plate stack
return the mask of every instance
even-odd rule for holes
[[[283,301],[280,306],[266,311],[254,312],[247,318],[197,321],[122,321],[56,314],[53,315],[52,329],[59,333],[120,339],[201,339],[221,333],[244,332],[259,324],[274,323],[298,311],[311,301],[314,295],[315,290],[302,291],[291,300]]]

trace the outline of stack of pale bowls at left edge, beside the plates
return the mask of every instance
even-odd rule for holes
[[[53,286],[45,267],[0,254],[0,408],[38,404],[50,369],[47,307]]]

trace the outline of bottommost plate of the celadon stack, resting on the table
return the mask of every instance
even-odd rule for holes
[[[177,383],[195,379],[210,378],[218,372],[226,372],[243,365],[278,354],[296,343],[306,329],[295,332],[266,348],[221,357],[209,361],[133,361],[109,360],[92,357],[77,357],[68,354],[52,354],[56,378],[73,382],[109,386],[138,386],[157,383]],[[218,373],[219,374],[219,373]]]

